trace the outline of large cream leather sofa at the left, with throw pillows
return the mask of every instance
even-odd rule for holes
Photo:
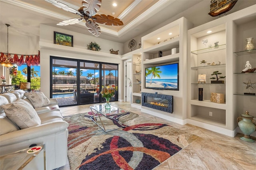
[[[17,99],[30,103],[24,93],[16,90],[0,95],[0,155],[28,148],[31,144],[44,144],[47,170],[64,166],[68,160],[68,123],[63,120],[55,99],[49,99],[50,105],[35,109],[41,120],[40,125],[20,129],[6,116],[3,105]]]

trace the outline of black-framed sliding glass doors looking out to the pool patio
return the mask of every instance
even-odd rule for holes
[[[50,65],[50,97],[60,106],[104,102],[102,87],[113,87],[110,101],[118,101],[117,64],[51,57]]]

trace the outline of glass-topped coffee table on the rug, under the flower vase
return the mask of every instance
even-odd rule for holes
[[[118,128],[126,127],[126,125],[124,125],[118,119],[120,117],[122,117],[123,115],[126,115],[127,113],[129,113],[128,111],[126,111],[124,109],[120,109],[118,107],[114,107],[114,106],[111,106],[110,109],[105,109],[105,105],[91,106],[90,109],[92,111],[92,116],[90,117],[90,119],[92,121],[94,121],[94,123],[96,123],[96,125],[98,125],[100,128],[102,128],[102,130],[104,130],[104,132],[109,132],[112,130],[116,130]],[[114,121],[115,123],[118,123],[118,127],[114,128],[114,129],[106,130],[106,128],[104,126],[104,122],[102,121],[101,117],[106,117],[106,118]],[[101,125],[99,125],[97,123],[97,121],[98,121],[97,118],[99,118]]]

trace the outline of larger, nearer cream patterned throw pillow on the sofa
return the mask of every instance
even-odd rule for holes
[[[35,109],[26,101],[17,99],[13,103],[2,105],[6,116],[21,129],[41,125]]]

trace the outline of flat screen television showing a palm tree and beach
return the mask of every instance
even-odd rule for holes
[[[158,90],[179,90],[179,63],[147,67],[145,88]]]

